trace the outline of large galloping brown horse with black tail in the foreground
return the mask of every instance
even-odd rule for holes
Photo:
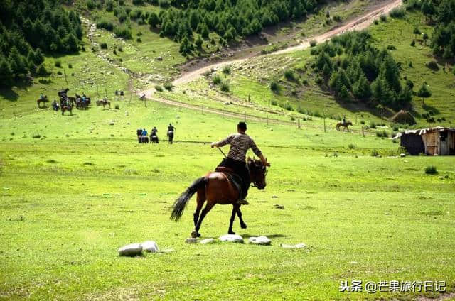
[[[265,182],[265,176],[267,175],[267,167],[262,164],[261,160],[255,160],[248,158],[247,160],[248,170],[250,171],[251,182],[255,187],[262,190],[267,185]],[[269,164],[267,164],[269,165]],[[235,214],[238,215],[240,219],[240,227],[242,229],[247,228],[247,224],[242,219],[242,212],[240,212],[240,205],[237,200],[239,199],[239,190],[232,184],[229,180],[227,173],[232,172],[228,168],[217,168],[213,173],[208,173],[205,177],[200,177],[198,180],[194,181],[193,184],[188,187],[188,189],[182,193],[180,197],[173,204],[173,211],[171,214],[171,219],[178,221],[182,214],[183,210],[188,204],[188,201],[193,197],[193,195],[198,192],[196,198],[196,212],[193,214],[194,221],[194,231],[191,233],[193,238],[199,237],[200,224],[206,214],[210,209],[215,206],[215,204],[232,204],[232,214],[230,217],[229,224],[229,234],[235,234],[232,231],[232,223],[235,219]],[[205,208],[202,209],[203,204],[207,201]],[[201,212],[202,209],[202,212]],[[200,216],[199,216],[200,214]]]

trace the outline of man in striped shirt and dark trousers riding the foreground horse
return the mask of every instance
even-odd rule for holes
[[[261,159],[264,166],[270,166],[264,155],[262,155],[262,152],[256,146],[255,141],[253,141],[253,139],[250,138],[245,131],[247,131],[247,124],[245,124],[245,122],[239,122],[239,124],[237,124],[237,133],[230,135],[222,141],[211,144],[212,148],[215,146],[219,148],[230,144],[228,157],[223,159],[218,167],[232,168],[234,173],[237,173],[237,175],[242,178],[242,187],[240,191],[240,198],[238,200],[241,204],[248,204],[245,198],[247,197],[248,188],[250,188],[251,184],[250,172],[247,169],[247,163],[245,160],[247,151],[251,148],[253,153]]]

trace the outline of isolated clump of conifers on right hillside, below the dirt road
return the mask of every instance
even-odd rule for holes
[[[370,42],[369,33],[352,32],[332,38],[312,51],[316,82],[325,82],[338,99],[358,99],[402,109],[412,100],[412,82],[400,80],[400,66],[387,50]],[[319,79],[319,80],[318,80]]]

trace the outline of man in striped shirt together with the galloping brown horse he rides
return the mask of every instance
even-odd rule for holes
[[[245,199],[251,182],[259,190],[267,186],[265,177],[267,175],[267,166],[270,166],[270,164],[267,163],[267,159],[264,158],[252,138],[245,134],[246,130],[247,125],[244,122],[240,122],[237,125],[237,133],[232,134],[223,141],[211,144],[212,148],[230,144],[228,157],[223,160],[215,172],[208,173],[195,180],[173,204],[171,219],[178,221],[188,201],[197,193],[196,211],[193,214],[194,231],[191,233],[192,237],[201,236],[199,233],[200,225],[215,204],[232,204],[228,234],[235,234],[232,231],[232,223],[236,214],[240,219],[240,227],[242,229],[247,228],[240,211],[242,206],[240,199]],[[245,162],[245,155],[250,148],[261,160],[248,158]],[[240,189],[234,177],[232,177],[232,173],[238,173],[244,179]],[[206,205],[203,208],[205,202]]]

